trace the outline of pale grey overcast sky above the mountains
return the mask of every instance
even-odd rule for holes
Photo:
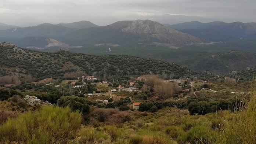
[[[142,18],[171,24],[256,22],[255,7],[256,0],[0,0],[0,22],[18,26],[82,20],[108,25]]]

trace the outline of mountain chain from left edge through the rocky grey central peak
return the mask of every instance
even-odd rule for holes
[[[88,21],[66,24],[60,23],[57,25],[43,23],[33,27],[0,30],[1,41],[8,38],[18,38],[22,40],[26,37],[53,38],[69,45],[101,43],[119,45],[134,43],[152,44],[154,42],[167,44],[198,44],[209,42],[150,20],[119,21],[101,27]],[[19,42],[21,40],[19,40]],[[15,44],[20,46],[17,41]]]

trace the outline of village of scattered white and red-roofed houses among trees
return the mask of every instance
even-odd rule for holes
[[[143,102],[147,103],[149,100],[158,99],[159,95],[153,93],[150,95],[150,91],[145,90],[143,86],[147,81],[144,76],[129,77],[128,80],[101,80],[92,75],[79,76],[73,78],[74,80],[63,80],[61,82],[51,81],[46,85],[54,86],[60,91],[68,91],[69,93],[75,93],[76,95],[86,97],[91,101],[102,103],[107,105],[120,99],[129,97],[130,103],[127,105],[131,109],[138,109],[139,105]],[[202,91],[204,88],[208,88],[207,81],[203,80],[191,80],[190,78],[183,79],[170,79],[162,80],[163,83],[172,84],[175,88],[172,93],[164,99],[179,99],[179,98],[193,98],[197,97],[196,91]],[[165,95],[165,94],[163,94]],[[146,98],[145,98],[146,97]]]

